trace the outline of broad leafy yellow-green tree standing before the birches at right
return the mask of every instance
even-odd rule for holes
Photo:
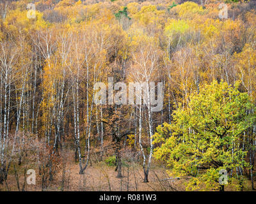
[[[227,172],[228,184],[243,188],[243,175],[234,170],[248,166],[242,146],[255,119],[250,97],[239,91],[239,82],[214,81],[189,98],[188,106],[173,112],[172,124],[157,128],[154,157],[185,177],[188,190],[224,191],[220,170]]]

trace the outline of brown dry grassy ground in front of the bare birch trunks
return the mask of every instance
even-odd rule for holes
[[[93,163],[92,166],[79,174],[79,164],[67,159],[51,184],[45,191],[182,191],[180,180],[166,181],[168,175],[164,169],[153,168],[148,176],[150,182],[143,182],[143,170],[138,164],[129,164],[122,168],[122,179],[117,179],[115,166],[108,166],[104,162]],[[37,173],[37,172],[36,172]],[[64,173],[64,175],[63,175]],[[36,175],[36,185],[26,184],[25,191],[41,191],[40,175]],[[19,175],[20,184],[24,182],[24,176]],[[8,175],[8,189],[18,191],[15,175]],[[7,187],[0,185],[0,191],[6,191]]]

